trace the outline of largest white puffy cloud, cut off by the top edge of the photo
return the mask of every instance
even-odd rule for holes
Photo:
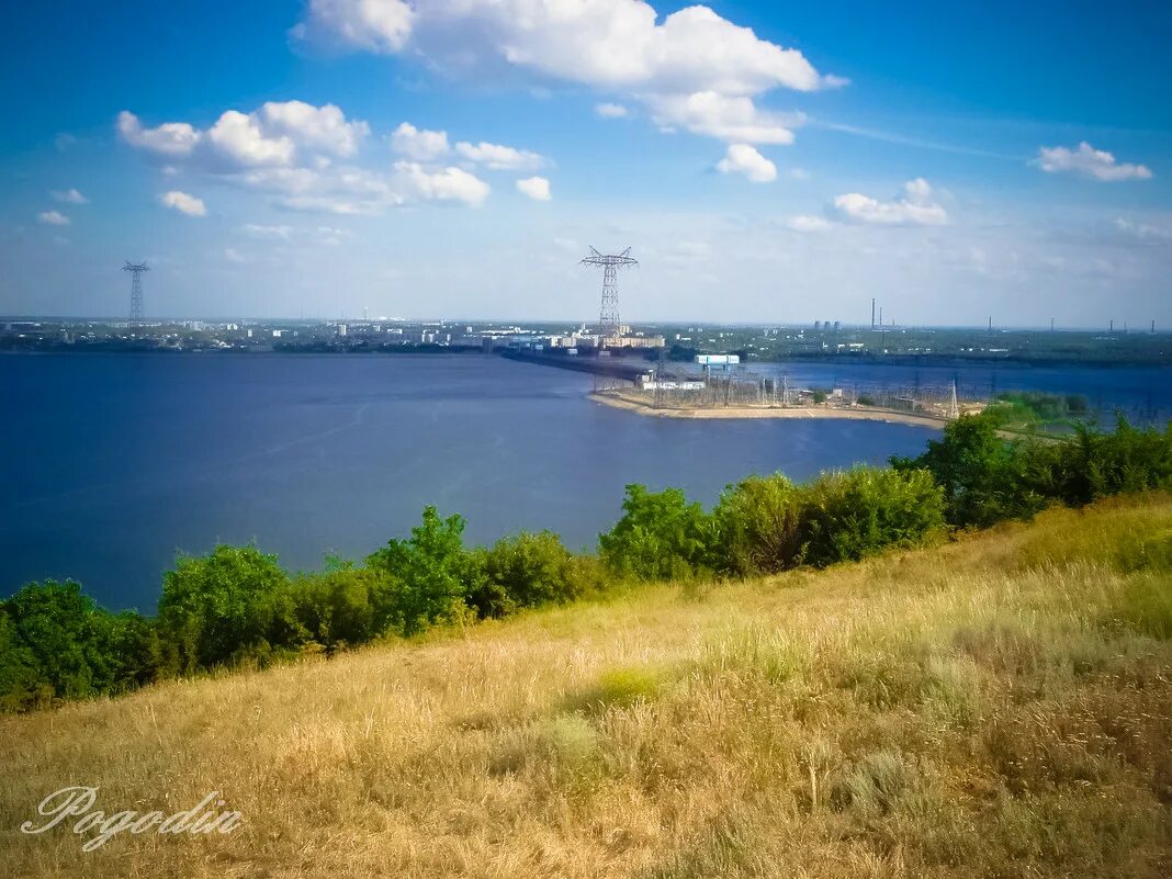
[[[309,0],[297,39],[334,48],[409,54],[449,75],[522,73],[621,93],[661,128],[731,143],[789,143],[792,132],[754,98],[776,88],[845,83],[797,49],[758,38],[706,6],[660,21],[645,0]],[[620,110],[621,108],[621,110]],[[607,117],[621,104],[599,104]]]

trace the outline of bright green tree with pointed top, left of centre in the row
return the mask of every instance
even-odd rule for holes
[[[440,518],[423,510],[423,524],[407,540],[391,539],[367,559],[388,578],[387,622],[404,636],[462,616],[470,565],[463,545],[464,518]]]

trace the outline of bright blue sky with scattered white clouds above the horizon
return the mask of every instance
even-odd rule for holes
[[[25,4],[0,313],[1172,323],[1157,2]]]

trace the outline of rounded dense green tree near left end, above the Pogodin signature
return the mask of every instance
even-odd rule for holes
[[[267,655],[301,634],[288,578],[275,556],[253,546],[180,557],[163,577],[158,621],[180,673]]]

